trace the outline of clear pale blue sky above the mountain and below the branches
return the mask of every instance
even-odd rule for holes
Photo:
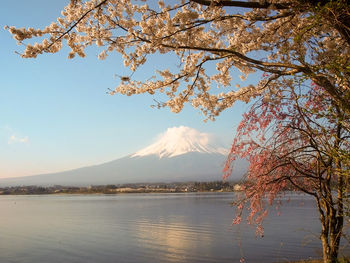
[[[134,153],[152,143],[169,127],[188,126],[211,133],[230,147],[242,113],[239,103],[216,121],[186,106],[178,114],[154,109],[151,95],[108,95],[116,75],[128,75],[116,53],[98,60],[92,48],[87,57],[67,59],[68,49],[23,59],[23,50],[4,26],[45,27],[60,15],[69,0],[4,1],[0,9],[0,178],[59,172],[100,164]],[[175,64],[156,56],[137,71],[147,79],[156,65]],[[236,76],[239,79],[239,76]]]

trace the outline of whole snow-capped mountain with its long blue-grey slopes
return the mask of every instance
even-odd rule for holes
[[[0,186],[217,181],[222,179],[226,156],[227,150],[218,147],[213,136],[180,126],[129,156],[59,173],[2,179]],[[236,163],[232,179],[240,179],[246,167],[246,162]]]

